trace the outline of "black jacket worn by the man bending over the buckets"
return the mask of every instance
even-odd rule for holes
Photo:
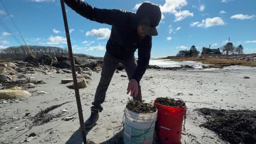
[[[152,37],[139,39],[139,20],[136,14],[119,9],[98,9],[80,0],[65,0],[65,3],[86,19],[112,25],[107,51],[113,56],[120,59],[131,58],[138,49],[138,66],[131,79],[139,82],[149,64]]]

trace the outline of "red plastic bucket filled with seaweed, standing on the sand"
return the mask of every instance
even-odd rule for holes
[[[154,102],[158,108],[156,124],[156,141],[160,143],[178,144],[181,142],[183,117],[186,106],[171,107]]]

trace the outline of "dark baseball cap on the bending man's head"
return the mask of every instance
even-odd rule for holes
[[[156,27],[159,25],[161,20],[161,10],[158,5],[144,2],[139,6],[136,15],[138,17],[139,26],[146,35],[158,35]]]

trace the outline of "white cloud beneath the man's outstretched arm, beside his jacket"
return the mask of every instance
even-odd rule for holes
[[[92,29],[90,32],[86,32],[86,36],[90,35],[97,39],[106,39],[109,38],[110,32],[108,28]]]

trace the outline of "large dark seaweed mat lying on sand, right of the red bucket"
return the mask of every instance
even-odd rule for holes
[[[200,126],[214,131],[229,143],[256,143],[256,111],[197,109],[207,122]]]

